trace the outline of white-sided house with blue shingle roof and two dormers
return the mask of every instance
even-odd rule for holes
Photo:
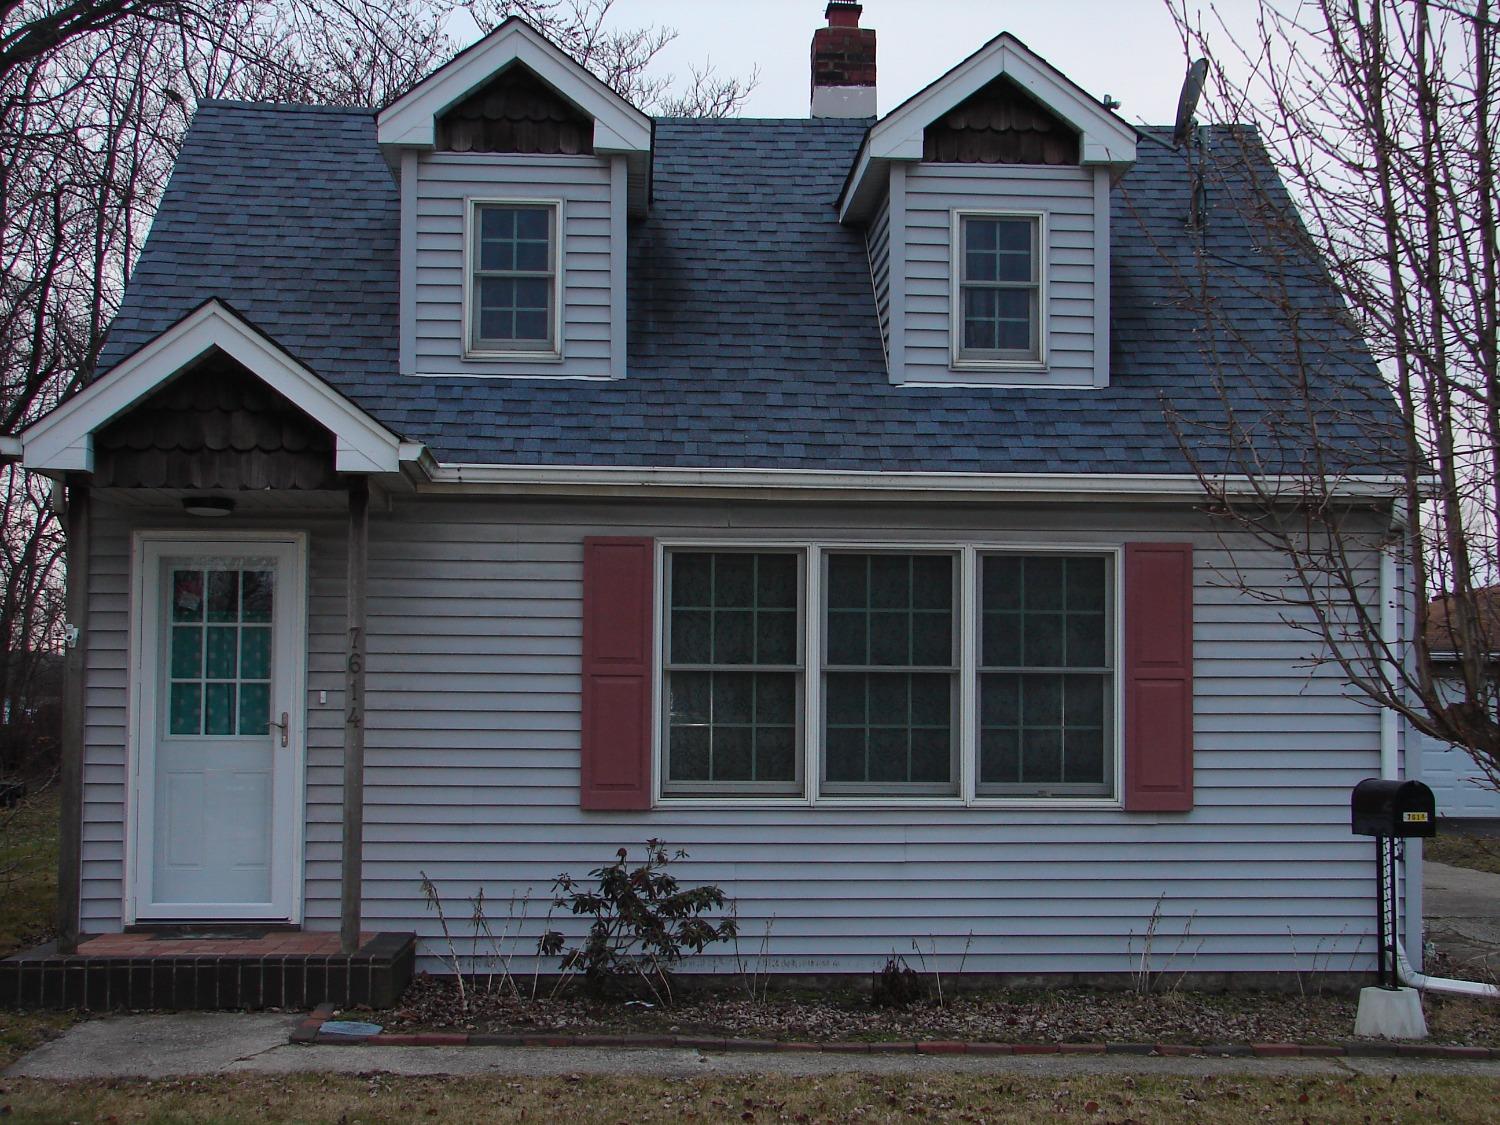
[[[536,916],[660,837],[776,972],[1124,975],[1148,928],[1198,974],[1372,968],[1348,794],[1389,724],[1167,417],[1280,393],[1263,154],[1010,34],[878,116],[826,16],[806,120],[651,120],[520,20],[378,112],[198,108],[98,375],[22,435],[75,544],[64,950],[440,969],[424,874]],[[1364,434],[1378,372],[1316,330]],[[1398,458],[1344,466],[1371,528]]]

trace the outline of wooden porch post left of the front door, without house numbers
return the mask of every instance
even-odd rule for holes
[[[63,744],[58,765],[62,824],[57,838],[57,951],[78,950],[82,879],[84,654],[88,644],[88,484],[68,477],[68,648],[63,654]],[[76,632],[72,632],[76,630]]]

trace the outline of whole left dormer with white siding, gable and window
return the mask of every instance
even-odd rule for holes
[[[651,118],[512,18],[376,118],[400,188],[400,370],[626,375]]]

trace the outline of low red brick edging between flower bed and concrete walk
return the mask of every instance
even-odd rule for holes
[[[291,1032],[292,1042],[340,1047],[684,1047],[702,1052],[776,1052],[818,1054],[1155,1054],[1240,1059],[1419,1058],[1500,1059],[1500,1047],[1456,1047],[1432,1042],[969,1042],[964,1040],[897,1040],[884,1042],[806,1040],[738,1040],[717,1035],[562,1035],[516,1032],[381,1032],[324,1035],[333,1005],[324,1004]]]

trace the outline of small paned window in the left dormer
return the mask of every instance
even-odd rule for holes
[[[558,351],[558,206],[471,201],[470,354]]]

